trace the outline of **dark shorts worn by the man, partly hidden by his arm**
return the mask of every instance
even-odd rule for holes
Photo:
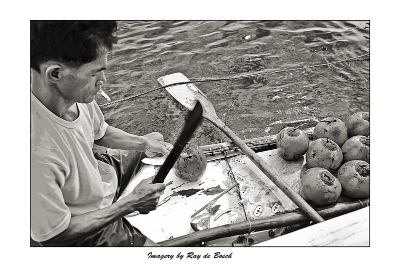
[[[105,153],[94,153],[97,160],[114,167],[118,178],[118,185],[114,202],[128,185],[131,178],[140,170],[142,152],[118,149],[107,149]],[[122,217],[105,226],[95,234],[78,241],[73,246],[155,246],[156,243],[148,239],[139,229],[133,227],[126,218]]]

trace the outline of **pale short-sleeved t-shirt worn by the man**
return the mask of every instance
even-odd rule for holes
[[[79,116],[69,122],[32,92],[30,99],[30,234],[41,242],[65,230],[71,216],[109,206],[117,178],[91,150],[108,126],[94,100],[77,103]]]

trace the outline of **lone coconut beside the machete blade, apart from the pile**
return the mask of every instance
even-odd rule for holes
[[[205,172],[207,159],[201,148],[192,143],[188,143],[175,162],[174,174],[186,181],[198,180]]]

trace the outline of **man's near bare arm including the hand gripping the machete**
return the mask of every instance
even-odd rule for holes
[[[140,212],[154,210],[165,185],[151,184],[151,180],[152,178],[143,179],[129,195],[105,208],[71,217],[68,228],[40,244],[43,246],[71,245],[135,210]]]

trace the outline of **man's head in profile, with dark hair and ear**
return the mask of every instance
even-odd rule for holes
[[[31,21],[30,67],[63,99],[89,103],[105,83],[114,21]]]

